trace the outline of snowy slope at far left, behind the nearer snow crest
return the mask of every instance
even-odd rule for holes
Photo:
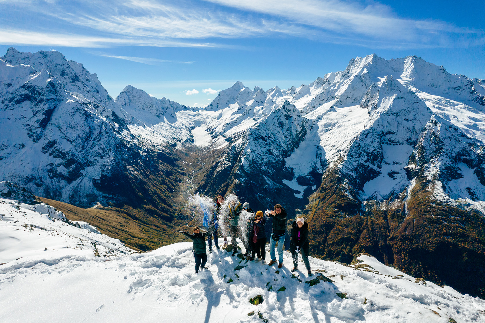
[[[96,250],[100,257],[133,252],[86,222],[68,221],[62,212],[45,203],[18,204],[0,198],[0,219],[0,263],[6,263],[2,270],[61,259],[88,260],[95,258]]]

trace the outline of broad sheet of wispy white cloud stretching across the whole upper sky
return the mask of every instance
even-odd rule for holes
[[[214,39],[277,35],[372,48],[454,47],[485,43],[483,30],[458,28],[439,20],[404,18],[389,6],[358,0],[119,0],[115,3],[22,0],[0,3],[15,8],[12,12],[29,13],[36,20],[39,17],[58,25],[57,32],[31,32],[35,26],[20,30],[18,17],[4,15],[0,35],[3,44],[224,47],[226,45],[217,44]],[[52,26],[55,24],[49,24],[50,28]],[[71,30],[73,34],[65,30]],[[212,41],[205,43],[202,41],[205,39]],[[140,63],[154,62],[144,60]]]

